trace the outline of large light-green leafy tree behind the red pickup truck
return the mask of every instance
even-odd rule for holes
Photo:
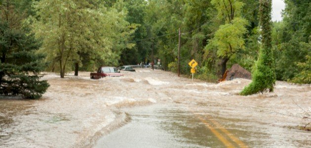
[[[136,26],[126,20],[122,0],[106,8],[101,0],[40,0],[35,23],[44,38],[42,51],[51,66],[58,66],[61,78],[75,65],[76,75],[82,61],[87,70],[118,65],[120,54],[134,44],[127,43]]]

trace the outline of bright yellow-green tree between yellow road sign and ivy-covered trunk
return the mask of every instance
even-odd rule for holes
[[[248,22],[241,17],[243,3],[239,0],[212,0],[211,3],[218,11],[218,19],[225,23],[216,31],[215,36],[210,39],[207,50],[217,49],[217,55],[221,58],[221,74],[225,74],[227,62],[240,49],[244,48],[243,35],[247,29]]]

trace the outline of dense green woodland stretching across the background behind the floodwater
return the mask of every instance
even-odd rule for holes
[[[99,66],[151,63],[152,53],[163,70],[177,72],[179,28],[182,74],[190,74],[192,59],[203,80],[216,81],[236,63],[254,72],[267,47],[260,1],[269,0],[0,0],[0,85],[16,72],[63,78]],[[267,26],[272,63],[266,66],[276,80],[310,84],[311,2],[285,4],[283,21]]]

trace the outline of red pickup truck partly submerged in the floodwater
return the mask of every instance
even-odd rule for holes
[[[100,79],[106,76],[123,76],[123,74],[120,74],[115,67],[100,67],[97,73],[90,74],[91,79]]]

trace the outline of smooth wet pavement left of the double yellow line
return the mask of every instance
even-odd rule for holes
[[[131,121],[101,138],[95,148],[206,148],[223,146],[182,106],[152,105],[129,109]]]

